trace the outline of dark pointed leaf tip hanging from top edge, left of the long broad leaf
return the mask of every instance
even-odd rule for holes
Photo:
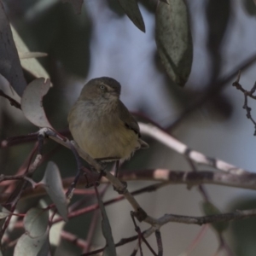
[[[133,24],[142,32],[145,32],[143,15],[138,7],[137,0],[119,0],[119,3]]]

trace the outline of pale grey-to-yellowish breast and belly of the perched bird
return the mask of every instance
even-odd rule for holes
[[[99,114],[80,104],[69,114],[69,129],[73,139],[92,158],[127,159],[140,147],[137,134],[126,128],[113,113]],[[83,114],[81,114],[83,113]],[[72,115],[79,116],[73,120]]]

